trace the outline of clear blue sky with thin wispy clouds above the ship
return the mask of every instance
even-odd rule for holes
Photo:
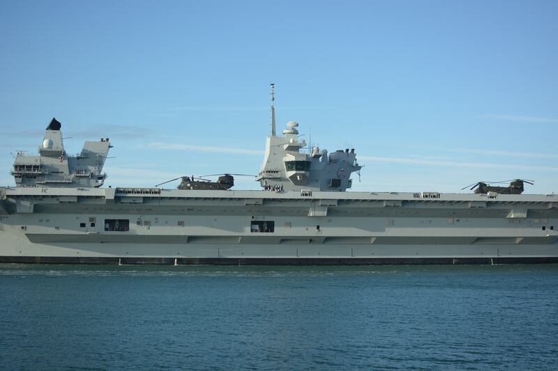
[[[300,123],[354,191],[558,192],[557,1],[1,1],[0,184],[52,117],[110,137],[105,184],[256,174]],[[235,189],[258,189],[236,178]],[[169,184],[174,187],[175,183]]]

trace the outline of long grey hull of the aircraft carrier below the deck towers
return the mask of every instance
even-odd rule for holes
[[[1,193],[1,262],[496,264],[558,259],[555,195],[49,188]],[[120,223],[117,230],[114,221]]]

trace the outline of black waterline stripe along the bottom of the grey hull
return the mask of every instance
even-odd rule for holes
[[[77,265],[491,265],[556,264],[558,257],[533,258],[77,258],[0,256],[0,263]]]

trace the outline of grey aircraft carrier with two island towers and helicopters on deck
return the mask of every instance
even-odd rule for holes
[[[558,262],[558,195],[352,192],[354,149],[271,129],[260,191],[183,178],[179,189],[103,188],[110,139],[63,148],[48,125],[0,187],[0,262],[83,264],[502,264]]]

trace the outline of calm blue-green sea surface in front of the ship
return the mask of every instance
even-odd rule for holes
[[[0,368],[557,370],[558,266],[0,265]]]

